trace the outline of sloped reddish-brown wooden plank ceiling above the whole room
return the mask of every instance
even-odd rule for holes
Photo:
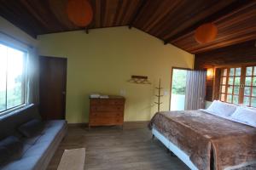
[[[130,26],[165,43],[199,54],[256,39],[255,0],[90,0],[94,19],[88,29]],[[68,20],[67,0],[0,0],[0,15],[32,37],[81,30]],[[218,27],[215,41],[195,42],[195,29]]]

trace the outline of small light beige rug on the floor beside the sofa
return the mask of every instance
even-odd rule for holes
[[[85,148],[64,150],[57,170],[84,170]]]

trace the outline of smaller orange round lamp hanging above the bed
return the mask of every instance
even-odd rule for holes
[[[218,34],[218,28],[212,23],[199,26],[195,30],[195,40],[199,43],[212,42]]]

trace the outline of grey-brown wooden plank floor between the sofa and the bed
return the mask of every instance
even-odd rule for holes
[[[48,170],[58,167],[63,150],[86,148],[85,170],[186,170],[182,161],[166,152],[145,122],[120,127],[68,127]]]

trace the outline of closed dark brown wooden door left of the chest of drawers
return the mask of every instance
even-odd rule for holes
[[[40,56],[39,111],[44,120],[65,119],[67,59]]]

